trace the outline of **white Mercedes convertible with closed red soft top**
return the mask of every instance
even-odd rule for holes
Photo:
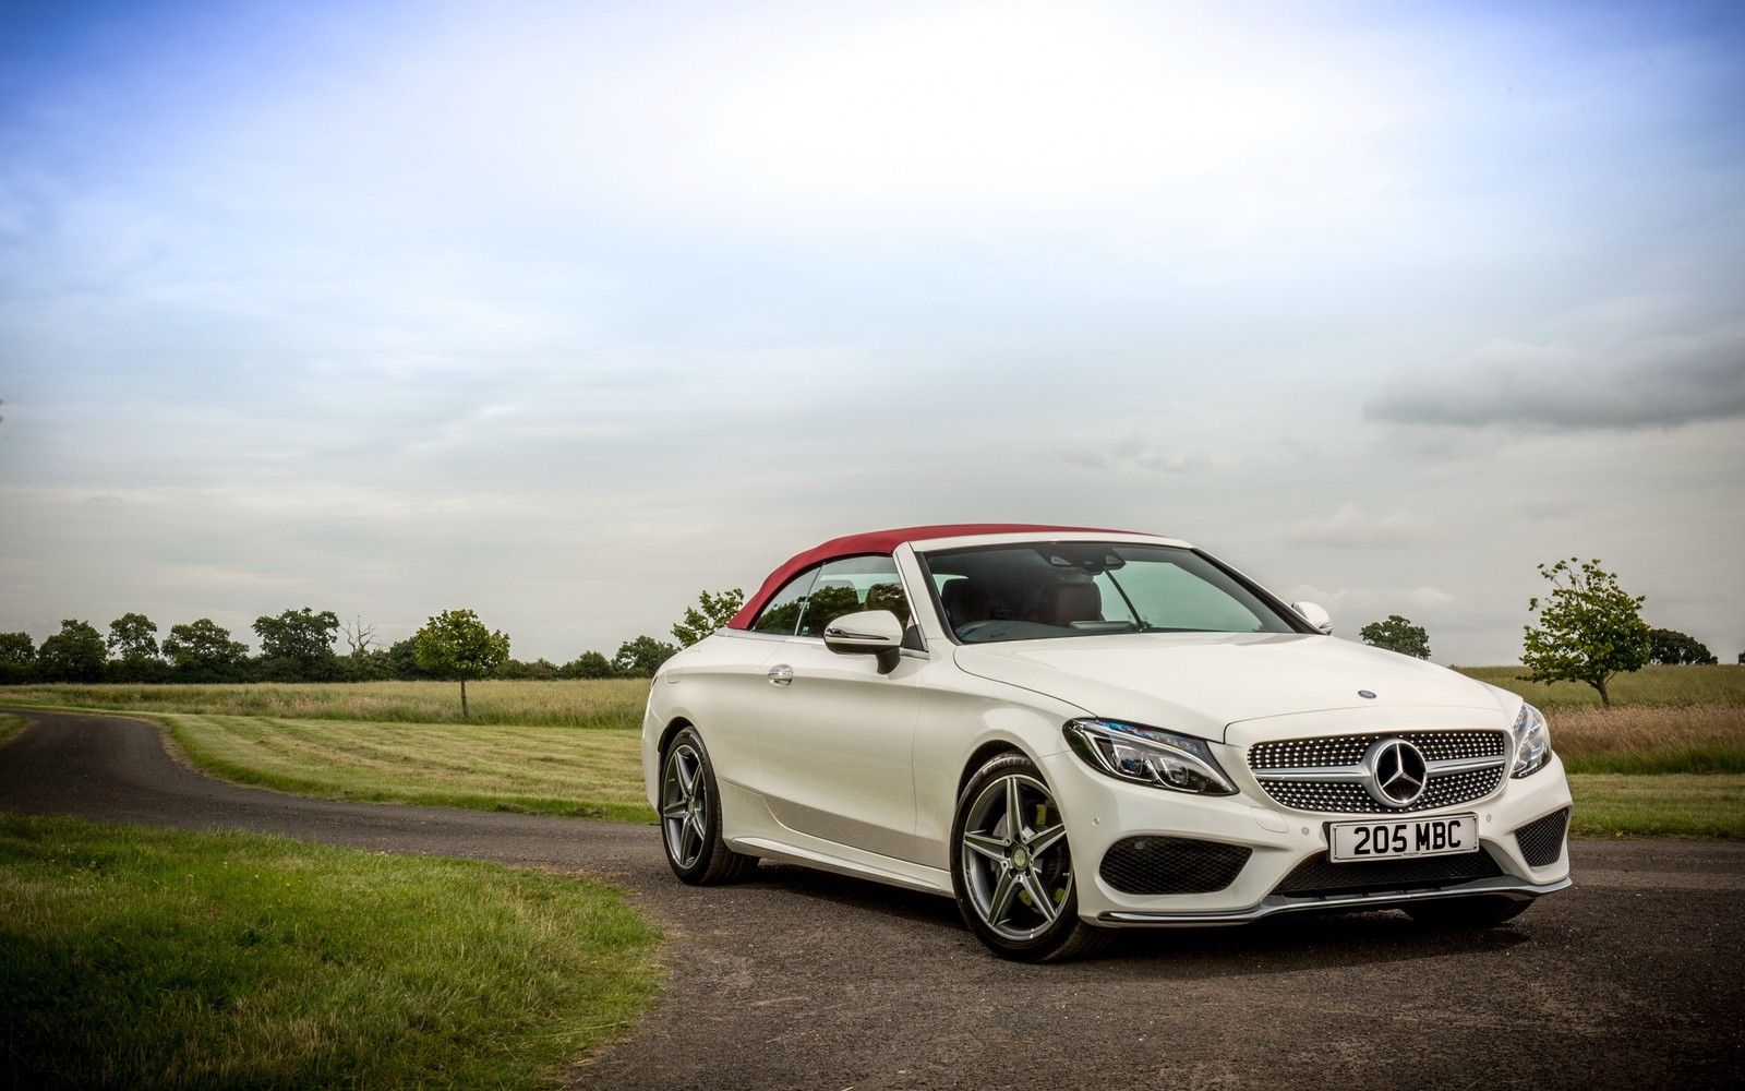
[[[1569,887],[1539,710],[1330,628],[1171,538],[839,538],[654,677],[649,801],[688,883],[768,857],[930,890],[1021,960],[1295,909],[1492,925]]]

